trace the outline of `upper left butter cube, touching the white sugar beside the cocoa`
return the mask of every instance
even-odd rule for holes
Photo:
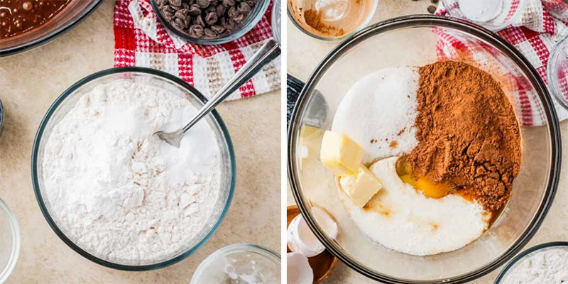
[[[345,134],[325,131],[322,138],[320,159],[335,175],[352,175],[363,160],[364,151],[359,144]]]

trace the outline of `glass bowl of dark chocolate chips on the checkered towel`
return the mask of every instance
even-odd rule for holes
[[[151,0],[160,22],[180,38],[202,45],[228,43],[261,21],[270,0]]]

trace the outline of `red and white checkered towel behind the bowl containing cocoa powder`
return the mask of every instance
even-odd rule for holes
[[[445,12],[446,8],[440,5],[436,13],[444,15]],[[479,41],[463,38],[441,29],[436,30],[435,33],[439,35],[437,45],[439,58],[463,59],[471,56],[476,62],[484,62],[484,65],[490,65],[486,68],[497,68],[497,73],[501,72],[501,74],[506,75],[498,78],[498,80],[513,94],[512,99],[515,101],[515,106],[518,107],[517,114],[520,114],[521,123],[524,126],[546,124],[542,105],[536,101],[533,94],[529,94],[531,92],[530,87],[528,87],[529,83],[524,82],[521,75],[511,74],[509,71],[513,68],[506,68],[506,70],[503,68],[503,65],[508,64],[508,60],[500,58],[501,55],[492,54],[491,48]],[[498,31],[497,34],[520,50],[535,67],[542,80],[547,83],[548,57],[555,43],[564,35],[568,35],[568,25],[552,17],[541,0],[527,0],[523,15],[513,25]],[[484,53],[476,52],[479,50],[484,50]],[[552,98],[552,101],[555,102],[559,119],[568,119],[568,111],[560,107],[555,98]]]

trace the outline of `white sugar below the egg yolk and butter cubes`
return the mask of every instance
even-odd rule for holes
[[[368,207],[361,209],[339,190],[349,216],[366,236],[395,251],[427,256],[459,249],[488,228],[481,204],[459,195],[428,198],[400,180],[397,159],[379,160],[369,168],[383,189]]]

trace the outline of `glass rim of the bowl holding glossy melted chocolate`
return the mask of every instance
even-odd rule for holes
[[[23,3],[23,1],[21,2]],[[38,28],[33,28],[31,31],[10,38],[0,39],[0,57],[20,53],[50,42],[58,35],[62,35],[77,26],[101,3],[102,0],[70,0],[67,6]],[[1,3],[0,6],[2,6]]]

